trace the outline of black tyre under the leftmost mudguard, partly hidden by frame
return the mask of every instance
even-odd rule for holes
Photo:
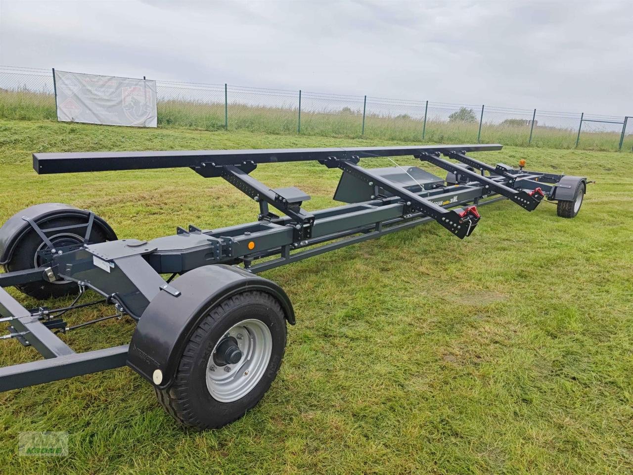
[[[85,224],[86,219],[80,217],[49,217],[45,221],[40,222],[38,225],[42,228],[49,227],[62,227],[70,225]],[[76,234],[83,238],[85,233],[85,227],[78,227],[77,231],[73,232],[72,229],[67,231],[60,231],[66,234]],[[50,236],[49,236],[50,237]],[[82,242],[81,241],[78,242]],[[106,241],[106,232],[96,224],[92,225],[91,243],[103,243]],[[35,269],[34,258],[38,248],[43,243],[42,238],[39,237],[34,229],[30,229],[27,234],[20,238],[20,241],[13,250],[13,255],[9,262],[4,264],[4,270],[6,272],[13,272],[15,270]],[[68,283],[54,283],[48,281],[28,282],[27,284],[20,284],[16,286],[20,291],[26,295],[37,298],[38,300],[45,300],[47,298],[56,298],[65,295],[76,294],[79,288],[75,282]]]

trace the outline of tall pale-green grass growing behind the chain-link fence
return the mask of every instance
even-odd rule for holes
[[[56,118],[53,95],[30,91],[0,90],[0,117],[20,120]],[[423,120],[401,115],[391,117],[367,114],[365,132],[361,134],[363,116],[358,111],[331,110],[301,111],[301,130],[304,135],[325,137],[361,137],[415,143],[474,143],[479,133],[477,122],[427,121],[424,137]],[[298,109],[253,106],[229,103],[229,130],[250,130],[267,134],[297,134]],[[158,103],[159,127],[187,127],[199,130],[225,128],[223,103],[169,100]],[[527,146],[529,125],[507,125],[486,122],[482,124],[480,142]],[[574,148],[577,130],[571,128],[542,127],[536,125],[531,146],[543,148]],[[583,131],[578,148],[587,150],[617,150],[620,134],[617,132]],[[623,150],[630,150],[633,135],[625,137]]]

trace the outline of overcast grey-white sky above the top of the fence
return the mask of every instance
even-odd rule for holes
[[[0,65],[633,115],[633,3],[0,0]]]

